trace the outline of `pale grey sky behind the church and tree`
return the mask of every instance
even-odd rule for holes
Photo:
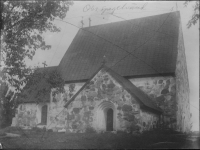
[[[47,44],[52,47],[50,50],[38,50],[32,61],[27,60],[28,66],[40,65],[46,61],[48,66],[57,66],[71,44],[73,38],[81,28],[106,24],[117,21],[124,21],[111,13],[126,20],[153,16],[171,11],[180,11],[181,24],[184,37],[189,86],[190,86],[190,112],[192,113],[192,130],[199,130],[199,23],[191,28],[186,24],[193,14],[193,5],[190,2],[187,7],[183,5],[184,1],[74,1],[66,17],[63,19],[75,26],[62,21],[55,21],[60,27],[61,32],[47,32],[43,36]],[[134,7],[134,9],[130,9]],[[143,8],[143,9],[138,9]],[[110,10],[108,10],[110,9]]]

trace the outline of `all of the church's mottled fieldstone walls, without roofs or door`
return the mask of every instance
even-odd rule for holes
[[[66,84],[65,93],[51,96],[50,103],[20,104],[12,125],[37,126],[41,123],[42,107],[47,105],[46,127],[55,131],[85,132],[92,128],[105,131],[107,113],[111,109],[113,130],[150,130],[157,126],[159,120],[164,127],[189,132],[189,82],[180,18],[178,30],[175,75],[129,79],[163,110],[160,118],[142,110],[137,100],[120,83],[108,72],[100,70],[67,108],[64,108],[65,103],[84,85],[83,82]],[[167,65],[170,66],[170,63]]]

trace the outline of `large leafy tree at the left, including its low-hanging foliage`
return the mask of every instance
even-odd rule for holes
[[[42,34],[47,31],[59,32],[60,29],[55,26],[54,19],[65,18],[72,4],[71,1],[0,1],[0,11],[2,14],[0,20],[0,65],[3,63],[4,66],[3,69],[0,66],[1,127],[10,125],[12,122],[17,106],[15,98],[22,95],[20,93],[23,89],[22,87],[27,83],[25,87],[29,87],[34,80],[41,77],[41,75],[35,73],[38,67],[28,68],[25,64],[25,59],[32,59],[37,50],[48,50],[51,48],[50,45],[45,43]],[[36,83],[33,85],[36,85]],[[62,87],[63,83],[61,85],[61,83],[56,81],[55,84],[50,84],[50,87],[39,90],[37,96],[40,96],[41,93],[44,95],[44,90],[50,94],[50,88],[58,85]],[[17,91],[16,97],[12,97],[12,92],[6,94],[9,86],[13,86]]]

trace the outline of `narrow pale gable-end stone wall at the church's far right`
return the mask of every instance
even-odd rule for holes
[[[185,47],[181,25],[179,27],[178,56],[176,62],[176,88],[177,88],[177,130],[189,132],[190,130],[190,102],[189,81],[185,56]]]

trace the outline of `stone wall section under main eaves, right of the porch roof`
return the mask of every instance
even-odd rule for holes
[[[130,81],[143,92],[149,95],[153,102],[163,110],[164,127],[176,129],[176,81],[174,77],[135,78]]]

